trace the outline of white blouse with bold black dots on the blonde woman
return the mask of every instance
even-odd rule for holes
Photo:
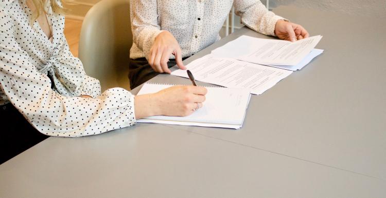
[[[121,88],[100,93],[69,51],[64,16],[47,18],[52,43],[23,0],[0,0],[0,105],[12,103],[40,132],[76,137],[135,124],[134,96]],[[93,98],[77,97],[90,95]]]

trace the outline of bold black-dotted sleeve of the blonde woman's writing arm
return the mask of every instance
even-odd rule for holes
[[[84,136],[135,124],[134,96],[121,88],[96,98],[65,97],[51,89],[16,43],[12,19],[0,11],[0,83],[8,100],[40,132],[52,136]]]

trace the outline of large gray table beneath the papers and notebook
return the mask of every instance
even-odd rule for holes
[[[322,34],[325,51],[253,96],[243,128],[137,124],[50,137],[0,166],[0,197],[385,197],[384,19],[274,11]],[[266,37],[243,28],[185,64],[240,35]]]

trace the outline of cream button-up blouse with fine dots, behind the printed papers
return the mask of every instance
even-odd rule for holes
[[[130,57],[148,58],[154,38],[164,30],[176,37],[183,57],[197,53],[220,39],[232,5],[244,25],[263,34],[274,35],[277,20],[283,19],[259,0],[131,0]]]

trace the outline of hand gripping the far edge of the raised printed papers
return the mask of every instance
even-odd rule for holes
[[[306,29],[301,25],[278,20],[275,25],[275,34],[278,38],[295,42],[303,38],[309,37]]]

